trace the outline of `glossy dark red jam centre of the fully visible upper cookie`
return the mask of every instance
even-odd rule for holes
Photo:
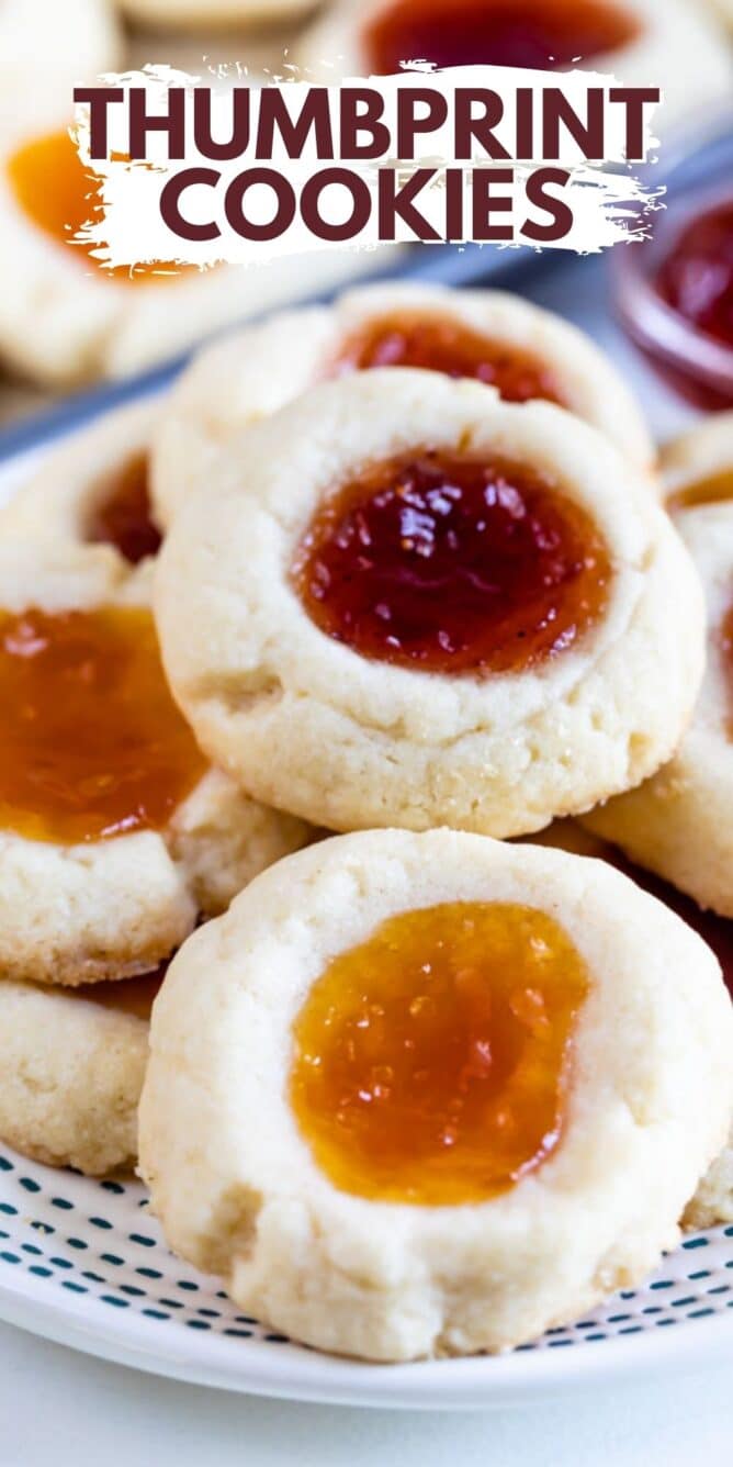
[[[572,647],[605,607],[611,566],[589,515],[532,468],[418,450],[327,499],[292,574],[328,637],[462,673]]]

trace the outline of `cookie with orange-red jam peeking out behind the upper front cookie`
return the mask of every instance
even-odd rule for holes
[[[205,348],[173,387],[154,440],[152,493],[170,524],[208,483],[216,455],[248,422],[315,383],[374,367],[419,367],[542,398],[607,433],[642,468],[654,447],[635,399],[601,351],[551,311],[503,290],[394,282],[330,307],[281,311]]]

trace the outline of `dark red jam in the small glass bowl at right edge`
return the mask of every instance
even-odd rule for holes
[[[733,200],[682,230],[657,274],[667,305],[724,346],[733,346]]]

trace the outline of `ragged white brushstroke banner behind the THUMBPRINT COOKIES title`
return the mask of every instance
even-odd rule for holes
[[[347,78],[343,88],[371,88],[380,92],[384,107],[383,120],[390,131],[390,138],[396,138],[397,98],[400,89],[415,85],[430,85],[440,89],[447,101],[447,120],[444,125],[416,135],[415,157],[408,164],[399,164],[400,179],[405,180],[418,167],[431,167],[437,175],[430,186],[419,194],[419,211],[432,224],[438,236],[450,238],[454,244],[472,241],[471,229],[471,200],[472,173],[478,169],[510,169],[512,182],[506,180],[497,189],[510,198],[510,205],[498,214],[500,219],[515,222],[516,238],[506,248],[526,245],[522,238],[520,220],[528,213],[526,182],[532,172],[541,164],[542,156],[537,156],[535,163],[487,161],[485,151],[476,148],[471,160],[454,157],[454,98],[457,88],[490,88],[503,100],[504,114],[496,125],[494,135],[498,142],[515,158],[516,138],[516,94],[519,88],[531,88],[541,98],[548,88],[561,88],[563,97],[583,114],[588,104],[588,89],[600,88],[604,94],[604,154],[603,158],[588,161],[581,145],[570,132],[560,128],[559,156],[551,158],[551,164],[569,172],[570,178],[561,189],[561,197],[572,210],[572,226],[559,241],[545,241],[542,248],[561,248],[579,254],[595,254],[622,242],[641,241],[647,238],[651,216],[663,207],[660,204],[663,188],[655,188],[639,179],[632,172],[632,164],[626,163],[626,114],[625,109],[611,101],[611,91],[619,87],[616,78],[598,72],[567,72],[547,73],[531,70],[510,70],[506,67],[453,67],[443,72],[432,70],[424,65],[406,67],[394,76]],[[106,87],[122,88],[125,95],[130,88],[144,88],[145,110],[150,116],[164,114],[167,109],[169,89],[183,88],[186,101],[196,87],[211,88],[211,135],[227,138],[232,133],[232,88],[240,78],[201,78],[185,72],[177,72],[167,66],[147,66],[139,72],[110,73],[101,79]],[[274,79],[270,85],[280,87],[286,98],[290,116],[298,116],[303,94],[312,88],[311,82],[298,79]],[[331,85],[320,88],[328,94],[328,110],[333,119],[333,133],[339,138],[339,98],[342,87]],[[252,136],[257,131],[258,100],[262,88],[249,87],[252,106]],[[539,109],[541,110],[541,109]],[[148,133],[145,160],[126,161],[130,157],[129,148],[129,113],[123,103],[110,106],[107,111],[107,156],[91,158],[89,153],[89,107],[85,103],[76,107],[76,120],[72,129],[79,156],[89,170],[89,189],[94,189],[94,216],[76,236],[86,248],[91,248],[94,258],[108,267],[130,268],[136,264],[154,264],[167,261],[174,264],[213,267],[221,261],[232,264],[255,264],[276,257],[305,254],[317,249],[328,249],[331,245],[314,235],[303,223],[299,208],[296,208],[292,224],[284,233],[273,241],[252,241],[239,235],[224,216],[224,195],[227,186],[233,183],[243,169],[262,166],[262,158],[255,158],[254,145],[240,156],[229,161],[211,163],[196,150],[191,109],[186,107],[186,142],[185,158],[170,160],[167,156],[164,132]],[[541,128],[537,129],[538,133]],[[539,144],[541,145],[541,144]],[[652,133],[652,109],[644,110],[644,148],[645,160],[654,158],[658,147]],[[267,158],[267,166],[280,172],[292,186],[299,200],[303,186],[312,175],[324,166],[331,166],[333,160],[324,160],[315,148],[315,138],[311,133],[302,150],[302,156],[292,158],[277,135]],[[336,164],[339,154],[336,153]],[[380,242],[378,210],[377,210],[377,178],[380,169],[396,169],[396,154],[384,156],[375,161],[349,161],[349,169],[358,173],[368,185],[374,207],[369,219],[359,229],[358,235],[349,241],[353,248],[371,249]],[[194,224],[216,222],[220,236],[211,241],[188,241],[173,232],[161,217],[160,201],[163,186],[182,170],[191,167],[216,167],[220,180],[216,188],[210,185],[191,185],[185,192],[185,207],[182,214]],[[460,235],[446,235],[446,170],[462,169],[462,189],[466,197],[463,210],[465,227]],[[556,191],[557,192],[557,191]],[[323,217],[330,223],[342,223],[349,214],[349,200],[340,185],[328,185],[321,194]],[[531,211],[531,210],[529,210]],[[265,224],[274,213],[273,192],[267,185],[254,185],[246,194],[246,214],[254,224]],[[397,219],[396,241],[409,244],[415,241],[415,233],[409,224]],[[334,246],[336,248],[336,246]],[[345,248],[343,242],[337,248]],[[535,245],[537,248],[537,245]],[[170,268],[170,264],[169,264]]]

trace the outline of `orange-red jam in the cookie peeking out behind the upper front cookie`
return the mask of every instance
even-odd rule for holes
[[[539,358],[437,312],[402,311],[368,321],[343,343],[333,376],[369,367],[422,367],[447,377],[475,377],[491,383],[509,402],[545,398],[566,406]]]

